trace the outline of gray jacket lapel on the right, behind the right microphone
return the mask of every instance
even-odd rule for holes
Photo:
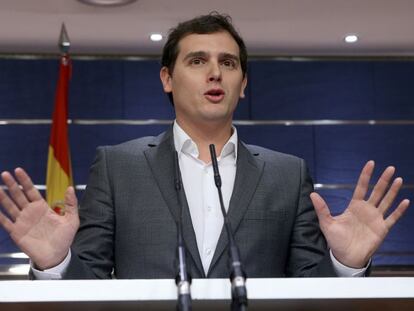
[[[260,177],[262,176],[263,166],[264,162],[254,158],[244,144],[239,141],[236,179],[234,181],[233,193],[228,209],[228,217],[230,219],[233,233],[237,231],[247,207],[253,198],[253,194],[255,193]],[[214,268],[214,265],[217,263],[218,259],[221,257],[223,251],[226,249],[227,244],[227,233],[223,227],[207,277]]]

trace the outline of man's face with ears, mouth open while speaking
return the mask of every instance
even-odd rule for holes
[[[239,47],[223,31],[190,34],[179,42],[172,74],[161,69],[165,92],[172,92],[178,122],[230,121],[247,79],[243,78]]]

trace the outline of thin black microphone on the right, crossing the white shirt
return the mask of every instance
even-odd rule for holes
[[[213,144],[210,146],[211,163],[214,171],[214,182],[217,187],[221,213],[224,218],[224,227],[227,231],[227,237],[229,239],[229,256],[230,256],[230,282],[231,282],[231,310],[247,310],[247,289],[246,289],[246,273],[243,271],[243,267],[240,261],[240,252],[234,241],[233,232],[231,230],[231,224],[227,217],[226,210],[223,203],[223,194],[221,192],[221,177],[217,164],[216,148]]]

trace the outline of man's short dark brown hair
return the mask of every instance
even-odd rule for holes
[[[234,29],[231,17],[227,14],[211,12],[201,15],[188,21],[179,23],[177,27],[170,29],[167,42],[162,50],[161,65],[168,68],[170,75],[174,72],[175,62],[178,56],[178,43],[182,38],[190,34],[210,34],[220,31],[227,31],[239,46],[240,67],[243,77],[247,71],[247,49],[242,37]],[[172,101],[172,94],[168,97]]]

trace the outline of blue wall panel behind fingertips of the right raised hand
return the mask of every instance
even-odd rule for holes
[[[316,181],[356,183],[368,160],[376,162],[374,178],[394,165],[406,183],[414,184],[414,125],[342,125],[315,128]]]

